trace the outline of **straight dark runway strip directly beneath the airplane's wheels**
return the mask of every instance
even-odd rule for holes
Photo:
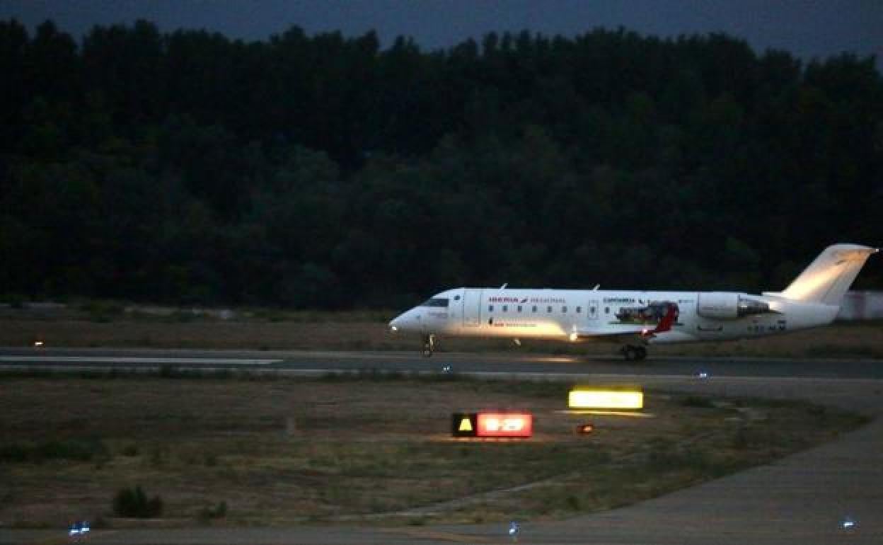
[[[500,373],[544,375],[624,375],[645,377],[780,377],[883,379],[883,362],[876,360],[694,358],[651,356],[642,362],[593,356],[550,356],[519,352],[472,354],[436,352],[318,351],[153,351],[117,349],[4,348],[0,368],[15,367],[159,367],[263,368],[281,371]]]

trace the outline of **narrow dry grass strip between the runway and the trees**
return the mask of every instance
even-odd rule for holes
[[[89,308],[89,307],[87,307]],[[104,307],[100,307],[104,308]],[[222,320],[201,314],[81,311],[39,316],[0,314],[0,346],[139,347],[164,349],[418,351],[417,337],[396,336],[393,312],[269,313]],[[611,344],[440,339],[441,352],[614,354]],[[883,322],[836,322],[787,335],[723,343],[653,345],[651,354],[797,358],[883,358]]]

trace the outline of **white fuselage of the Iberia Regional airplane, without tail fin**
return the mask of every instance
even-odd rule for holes
[[[616,341],[653,329],[654,303],[675,303],[668,331],[646,343],[763,337],[825,325],[840,307],[728,291],[456,288],[396,318],[393,329],[449,337]],[[759,307],[751,309],[751,305]],[[749,308],[743,308],[749,307]]]

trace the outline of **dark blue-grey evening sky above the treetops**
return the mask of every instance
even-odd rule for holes
[[[77,35],[134,19],[163,31],[207,28],[245,40],[291,25],[309,34],[373,28],[384,45],[404,34],[424,49],[525,28],[565,35],[596,26],[661,36],[723,31],[758,52],[787,49],[808,59],[851,51],[875,54],[883,65],[883,0],[0,0],[0,18],[10,17],[31,27],[54,19]]]

